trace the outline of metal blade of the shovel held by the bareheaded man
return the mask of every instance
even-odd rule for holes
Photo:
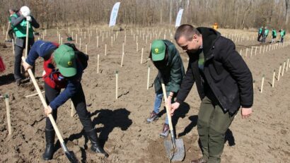
[[[175,145],[175,149],[173,149],[173,144],[171,140],[164,141],[166,155],[171,162],[181,162],[185,157],[185,145],[183,144],[183,140],[175,139]]]

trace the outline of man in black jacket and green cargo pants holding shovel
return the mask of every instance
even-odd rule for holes
[[[252,74],[235,44],[214,29],[181,25],[175,41],[190,61],[176,102],[171,104],[171,114],[196,82],[202,100],[197,131],[203,157],[192,162],[221,162],[225,133],[238,109],[241,107],[243,119],[252,114]]]

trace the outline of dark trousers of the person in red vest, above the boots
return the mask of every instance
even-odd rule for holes
[[[59,95],[59,93],[60,90],[55,90],[45,83],[45,100],[48,105],[55,97]],[[91,114],[86,109],[86,98],[83,94],[83,87],[81,87],[81,85],[79,86],[76,94],[71,97],[71,100],[74,103],[74,107],[76,108],[76,114],[79,115],[79,119],[83,124],[83,129],[85,131],[91,131],[91,129],[93,129],[93,123],[91,121]],[[57,109],[52,110],[52,116],[54,118],[54,121],[57,121]],[[50,119],[48,117],[46,119],[45,128],[47,130],[53,130],[52,123],[50,122]]]

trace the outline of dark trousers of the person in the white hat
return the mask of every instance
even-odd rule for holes
[[[17,38],[18,40],[20,40],[20,38]],[[21,79],[23,78],[22,76],[22,73],[21,73],[21,57],[23,56],[23,51],[25,49],[25,38],[24,40],[22,40],[24,43],[23,43],[23,46],[18,46],[17,44],[15,44],[15,54],[14,54],[14,57],[15,57],[15,62],[14,62],[14,78],[15,80],[18,80],[18,79]],[[33,45],[34,43],[34,39],[30,39],[29,41],[29,44],[28,44],[28,53],[30,51],[30,46]],[[33,73],[35,72],[35,67],[33,66],[33,69],[32,69]]]

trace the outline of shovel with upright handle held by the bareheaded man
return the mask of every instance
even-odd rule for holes
[[[167,95],[166,95],[165,85],[163,83],[161,83],[161,85],[162,85],[162,90],[163,90],[164,101],[166,102]],[[169,123],[170,135],[171,135],[171,141],[170,140],[164,141],[166,155],[170,159],[170,162],[175,162],[175,161],[180,162],[185,157],[185,145],[182,139],[175,139],[173,125],[171,121],[170,109],[168,108],[167,104],[166,104],[166,114],[168,117],[168,123]]]

